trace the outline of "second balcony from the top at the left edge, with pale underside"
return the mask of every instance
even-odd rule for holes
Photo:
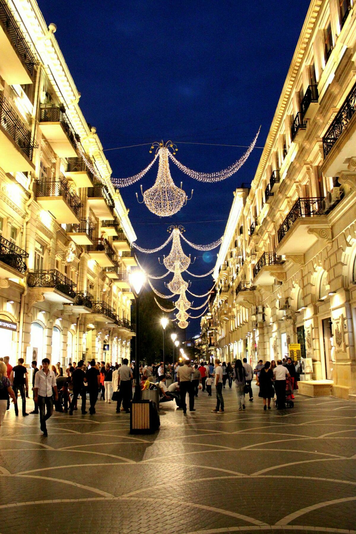
[[[0,167],[5,172],[33,172],[31,160],[37,146],[31,132],[0,93]]]

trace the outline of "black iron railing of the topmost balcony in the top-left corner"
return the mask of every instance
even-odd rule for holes
[[[22,61],[25,63],[26,68],[32,77],[34,74],[34,67],[38,64],[38,61],[31,52],[29,44],[21,32],[17,21],[15,21],[14,16],[9,9],[9,5],[7,5],[5,0],[0,0],[0,21],[2,22],[5,32],[9,36],[10,41],[18,51]]]

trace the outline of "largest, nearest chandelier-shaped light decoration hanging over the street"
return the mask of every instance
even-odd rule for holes
[[[180,187],[177,187],[172,180],[169,170],[168,154],[170,152],[168,147],[172,147],[173,153],[175,154],[178,150],[176,145],[173,145],[171,141],[168,141],[165,145],[163,141],[161,143],[153,143],[150,152],[152,152],[155,146],[157,146],[156,156],[159,155],[157,178],[154,185],[145,192],[143,192],[141,185],[141,193],[144,200],[140,204],[145,202],[149,211],[159,217],[170,217],[185,206],[188,200],[191,200],[193,190],[191,198],[188,199],[186,192],[182,189],[182,184],[180,184]],[[138,200],[137,193],[136,197]]]

